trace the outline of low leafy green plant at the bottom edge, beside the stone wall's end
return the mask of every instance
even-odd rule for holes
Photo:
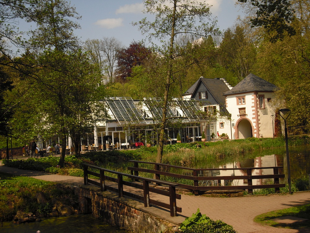
[[[216,232],[216,233],[235,233],[236,231],[232,226],[220,221],[212,220],[205,214],[201,214],[199,208],[197,212],[191,217],[187,217],[179,227],[181,232],[194,233],[194,232]]]

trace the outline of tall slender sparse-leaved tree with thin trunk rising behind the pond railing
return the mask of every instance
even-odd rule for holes
[[[149,33],[150,40],[156,38],[163,42],[162,48],[157,47],[157,53],[161,57],[161,64],[164,67],[162,74],[165,74],[165,76],[161,76],[165,81],[163,82],[162,120],[156,158],[156,162],[161,162],[169,89],[171,83],[174,82],[176,72],[174,65],[177,62],[176,58],[179,57],[175,40],[184,34],[189,34],[193,38],[200,38],[213,34],[217,30],[215,29],[215,21],[210,25],[205,22],[206,19],[210,20],[211,13],[209,7],[204,3],[190,0],[170,0],[166,4],[165,0],[146,0],[144,5],[146,8],[144,12],[155,15],[155,19],[151,22],[144,18],[134,25],[140,25],[143,34]],[[165,43],[166,39],[168,41]]]

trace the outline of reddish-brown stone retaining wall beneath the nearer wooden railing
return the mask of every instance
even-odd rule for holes
[[[113,226],[133,232],[160,233],[175,232],[183,217],[173,217],[170,213],[154,207],[144,208],[144,204],[129,198],[119,198],[117,194],[93,185],[72,186],[78,196],[82,213],[92,213],[92,217]],[[91,210],[89,209],[91,208]],[[170,217],[172,218],[172,217]]]

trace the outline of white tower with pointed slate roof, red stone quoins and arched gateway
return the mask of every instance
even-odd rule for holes
[[[226,91],[226,109],[232,114],[235,139],[273,137],[274,91],[277,86],[249,74]]]

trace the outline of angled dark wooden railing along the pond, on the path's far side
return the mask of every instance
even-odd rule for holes
[[[192,190],[195,195],[198,195],[199,192],[205,192],[208,190],[248,190],[249,194],[253,194],[253,189],[265,189],[265,188],[274,188],[275,192],[280,192],[280,187],[285,187],[285,184],[279,184],[279,178],[284,178],[284,174],[279,174],[279,168],[283,167],[248,167],[248,168],[204,168],[204,169],[196,169],[189,167],[179,167],[174,165],[155,163],[155,162],[143,162],[143,161],[135,161],[130,160],[129,162],[133,162],[133,167],[127,167],[128,170],[131,171],[131,174],[135,176],[139,176],[140,172],[147,172],[155,174],[156,183],[160,185],[158,182],[162,176],[175,177],[178,179],[185,180],[193,180],[193,185],[185,185],[178,183],[178,187]],[[139,167],[139,163],[144,164],[154,164],[154,169],[146,169]],[[187,171],[187,173],[191,173],[191,175],[181,175],[177,173],[171,173],[162,171],[162,168],[178,168]],[[273,169],[272,175],[252,175],[252,170],[255,169]],[[199,173],[203,171],[219,171],[219,170],[246,170],[247,174],[245,176],[199,176]],[[188,172],[189,171],[189,172]],[[184,172],[185,173],[185,172]],[[253,185],[253,179],[273,179],[273,184],[266,185]],[[218,184],[221,184],[221,180],[247,180],[247,185],[229,185],[229,186],[200,186],[200,181],[213,181],[218,180]]]

